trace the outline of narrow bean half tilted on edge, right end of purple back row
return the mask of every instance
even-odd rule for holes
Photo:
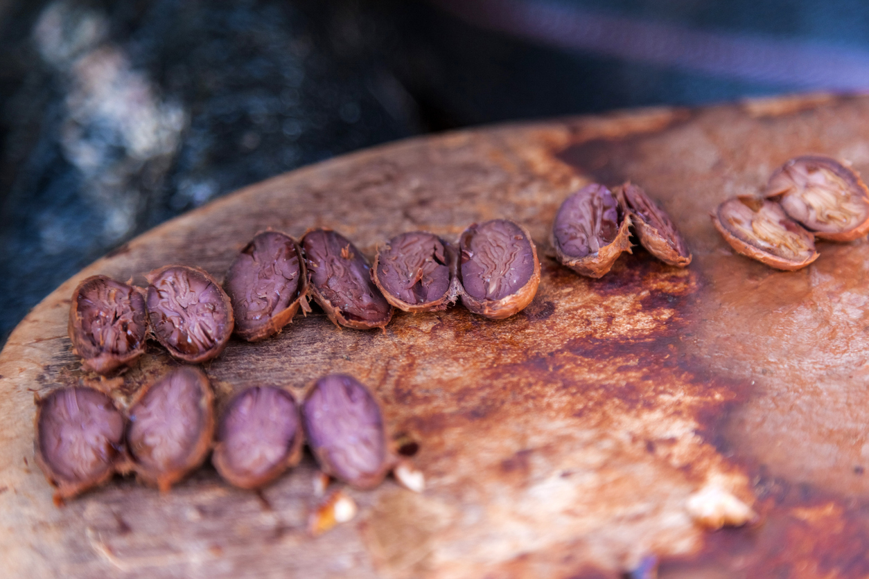
[[[628,181],[616,194],[624,195],[631,211],[631,224],[648,253],[671,266],[685,267],[691,263],[691,252],[673,220],[645,191]]]

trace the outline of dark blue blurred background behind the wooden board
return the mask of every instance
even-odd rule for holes
[[[866,89],[860,0],[0,0],[0,345],[130,237],[334,155]]]

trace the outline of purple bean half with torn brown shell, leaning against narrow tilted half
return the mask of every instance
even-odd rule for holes
[[[561,203],[552,227],[552,244],[561,264],[600,278],[621,252],[631,252],[631,216],[599,183],[581,188]]]

